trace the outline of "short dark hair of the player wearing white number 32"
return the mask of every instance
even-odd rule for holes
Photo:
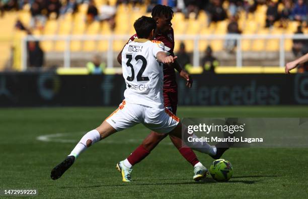
[[[156,29],[156,22],[151,17],[142,16],[134,23],[138,38],[148,38],[151,31]]]

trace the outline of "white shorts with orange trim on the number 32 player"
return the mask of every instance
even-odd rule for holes
[[[168,109],[126,103],[125,100],[106,119],[106,122],[117,131],[142,123],[148,129],[158,133],[171,132],[179,121],[180,119]]]

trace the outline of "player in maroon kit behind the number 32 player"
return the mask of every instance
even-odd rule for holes
[[[169,55],[173,55],[174,50],[174,33],[172,29],[171,20],[173,18],[173,11],[171,7],[157,5],[152,9],[152,18],[154,18],[157,22],[157,30],[155,40],[161,41],[165,44],[165,52]],[[138,38],[137,35],[133,35],[130,40],[134,40]],[[122,63],[121,57],[122,51],[118,55],[118,62]],[[181,66],[177,61],[175,61],[172,65],[164,65],[164,104],[165,107],[168,108],[172,113],[176,114],[177,112],[177,104],[178,104],[178,84],[176,81],[176,69],[180,76],[184,78],[186,82],[186,86],[192,86],[192,79],[189,74],[182,70]],[[127,159],[119,162],[117,164],[117,169],[121,172],[123,167],[128,172],[128,174],[122,173],[123,181],[131,181],[131,167],[144,159],[150,151],[155,148],[160,141],[162,141],[168,134],[160,134],[156,132],[151,132],[142,142],[140,146],[138,146],[128,157]],[[194,177],[195,181],[200,180],[203,177],[206,177],[208,171],[207,169],[199,162],[197,156],[187,146],[183,146],[182,140],[169,135],[171,141],[177,147],[181,155],[194,166]]]

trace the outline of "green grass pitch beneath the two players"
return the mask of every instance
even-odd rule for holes
[[[142,125],[93,145],[60,179],[51,180],[50,170],[114,109],[0,109],[0,189],[36,188],[39,198],[308,197],[308,148],[229,149],[223,155],[234,166],[229,182],[194,182],[193,167],[166,138],[134,166],[134,181],[124,183],[115,165],[149,133]],[[308,107],[180,107],[178,115],[308,117]],[[196,154],[209,167],[213,160]]]

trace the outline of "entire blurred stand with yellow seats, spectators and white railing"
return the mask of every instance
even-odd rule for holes
[[[271,68],[254,73],[283,72],[277,68],[308,53],[308,1],[6,0],[0,2],[0,71],[86,74],[95,65],[95,72],[120,73],[116,56],[135,34],[134,21],[150,16],[156,4],[172,7],[174,51],[192,73],[256,66]]]

